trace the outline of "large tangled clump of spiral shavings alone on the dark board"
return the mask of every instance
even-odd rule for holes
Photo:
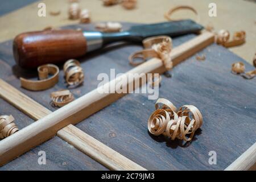
[[[177,138],[188,142],[203,125],[203,116],[193,105],[184,105],[177,110],[172,102],[159,98],[155,109],[147,123],[148,131],[153,135],[163,134],[171,140]]]

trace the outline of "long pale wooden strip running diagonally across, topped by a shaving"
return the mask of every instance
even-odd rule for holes
[[[193,55],[213,42],[214,35],[210,32],[206,32],[190,40],[188,43],[181,44],[181,46],[174,48],[171,53],[174,65],[177,65],[180,61]],[[115,85],[119,78],[127,78],[129,73],[138,73],[138,77],[134,78],[132,81],[129,79],[127,82],[127,85],[133,85],[134,81],[141,78],[141,73],[163,73],[165,71],[166,69],[162,64],[162,60],[154,58],[146,61],[136,68],[131,69],[121,77],[108,82],[107,85]],[[135,86],[137,85],[135,84]],[[102,88],[103,87],[104,85]],[[117,93],[101,94],[98,92],[98,89],[94,89],[68,105],[65,105],[53,113],[48,114],[46,117],[39,119],[39,122],[32,123],[20,130],[18,133],[1,140],[0,164],[9,162],[16,156],[23,154],[32,147],[35,147],[53,137],[57,131],[63,127],[69,124],[76,124],[84,120],[93,113],[96,113],[98,110],[112,104],[114,101],[118,100],[118,98],[125,95],[125,93],[118,94],[118,90],[116,91]]]

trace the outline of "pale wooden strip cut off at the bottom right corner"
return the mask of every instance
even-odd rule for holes
[[[242,170],[256,170],[256,142],[225,169],[225,171]]]

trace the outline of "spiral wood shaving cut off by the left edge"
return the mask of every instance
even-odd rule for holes
[[[19,129],[14,123],[14,117],[12,115],[0,115],[0,139],[9,137],[16,131]]]

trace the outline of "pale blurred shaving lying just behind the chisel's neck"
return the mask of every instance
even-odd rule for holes
[[[118,22],[97,23],[95,28],[101,32],[120,32],[122,24]]]

